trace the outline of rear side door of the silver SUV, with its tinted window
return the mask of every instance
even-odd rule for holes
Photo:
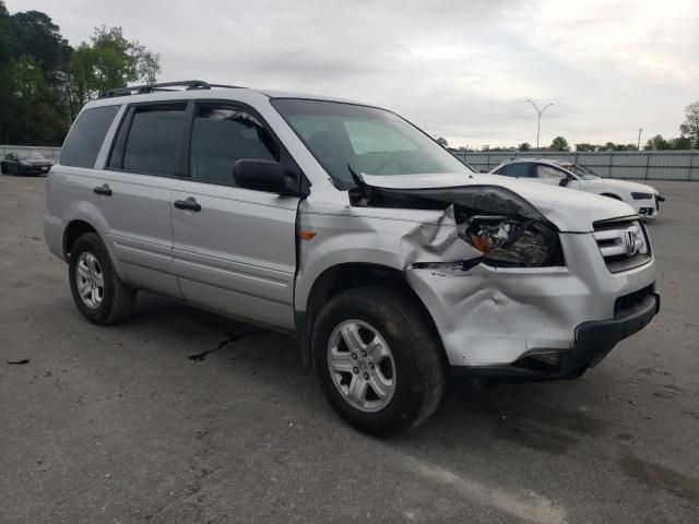
[[[129,106],[104,172],[98,209],[127,282],[181,298],[173,271],[170,195],[181,175],[187,103]]]

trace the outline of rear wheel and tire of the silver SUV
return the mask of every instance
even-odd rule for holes
[[[135,290],[125,286],[119,279],[109,253],[97,234],[88,233],[75,240],[70,252],[68,277],[75,306],[90,322],[115,324],[133,310]],[[95,288],[94,294],[90,293],[90,289]]]

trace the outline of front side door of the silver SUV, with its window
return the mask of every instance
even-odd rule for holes
[[[293,162],[268,129],[240,105],[197,104],[189,180],[171,196],[174,266],[188,302],[292,329],[299,199],[233,179],[241,158]]]

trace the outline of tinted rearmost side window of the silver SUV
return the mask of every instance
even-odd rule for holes
[[[68,139],[66,139],[61,150],[60,164],[74,167],[94,167],[107,130],[118,110],[119,106],[105,106],[81,112]]]

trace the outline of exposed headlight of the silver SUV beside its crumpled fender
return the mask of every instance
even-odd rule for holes
[[[561,265],[558,234],[537,221],[474,215],[462,224],[462,238],[493,265]]]

